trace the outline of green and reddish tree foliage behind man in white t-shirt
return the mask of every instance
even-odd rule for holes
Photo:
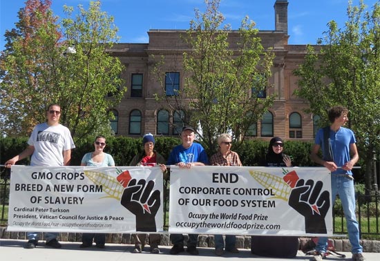
[[[117,42],[113,17],[100,10],[64,6],[53,15],[50,0],[28,0],[1,52],[1,134],[28,135],[45,121],[48,104],[61,105],[61,124],[75,137],[111,133],[108,113],[124,95],[123,66],[108,50]],[[112,95],[110,95],[112,94]],[[111,97],[108,97],[111,96]]]

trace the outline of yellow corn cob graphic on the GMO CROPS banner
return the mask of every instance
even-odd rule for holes
[[[96,185],[102,185],[103,191],[115,200],[122,198],[124,187],[115,177],[97,171],[84,171],[84,175]]]

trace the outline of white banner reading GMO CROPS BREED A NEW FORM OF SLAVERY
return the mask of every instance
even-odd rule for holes
[[[8,231],[163,231],[160,167],[12,166]]]

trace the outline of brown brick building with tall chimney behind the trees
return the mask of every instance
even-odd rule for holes
[[[306,101],[293,95],[297,88],[292,71],[301,64],[305,55],[305,45],[288,45],[287,40],[287,0],[274,3],[274,30],[260,30],[258,37],[265,48],[273,48],[275,53],[272,78],[274,88],[267,94],[276,93],[274,105],[261,122],[256,124],[252,136],[270,139],[279,136],[284,139],[311,140],[314,137],[314,116],[304,113]],[[166,108],[165,102],[155,100],[155,94],[162,94],[162,86],[152,75],[156,61],[152,55],[165,55],[166,63],[162,70],[162,82],[178,84],[182,89],[182,52],[186,50],[180,39],[185,30],[149,30],[149,43],[118,43],[110,50],[120,57],[126,70],[121,77],[128,88],[117,108],[113,109],[115,120],[111,126],[117,135],[141,137],[144,133],[153,135],[178,135],[178,114]],[[229,34],[234,42],[238,32]],[[169,74],[169,75],[168,75]],[[178,124],[180,125],[180,123]]]

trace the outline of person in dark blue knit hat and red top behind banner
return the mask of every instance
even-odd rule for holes
[[[167,179],[167,166],[165,160],[160,153],[154,150],[155,139],[151,133],[145,134],[142,137],[142,144],[144,146],[144,152],[135,155],[133,157],[130,166],[160,166],[164,175],[164,179]],[[144,249],[144,243],[146,240],[146,234],[135,234],[135,249],[133,253],[141,253]],[[158,244],[160,244],[160,234],[149,234],[149,244],[151,245],[151,253],[160,253]]]

